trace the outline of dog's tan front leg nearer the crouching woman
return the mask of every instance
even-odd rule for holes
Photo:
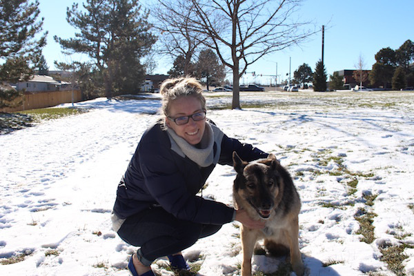
[[[253,230],[245,226],[242,226],[242,276],[252,275],[252,256],[255,250],[257,235],[257,230]]]

